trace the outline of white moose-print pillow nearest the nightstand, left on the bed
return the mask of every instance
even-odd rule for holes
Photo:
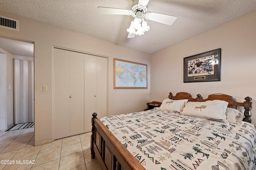
[[[181,112],[187,102],[188,102],[188,99],[183,99],[183,100],[164,99],[161,106],[158,107],[157,109],[160,109],[162,111]]]

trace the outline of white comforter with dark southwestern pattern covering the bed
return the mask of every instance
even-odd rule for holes
[[[256,129],[152,109],[100,120],[147,170],[256,170]]]

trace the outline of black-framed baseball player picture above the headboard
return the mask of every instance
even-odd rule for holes
[[[184,83],[220,81],[220,49],[184,58]]]

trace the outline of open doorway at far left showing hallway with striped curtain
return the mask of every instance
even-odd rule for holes
[[[0,99],[0,106],[1,107],[1,119],[0,119],[0,130],[5,130],[12,125],[16,124],[15,123],[15,94],[18,93],[22,98],[20,98],[21,103],[24,103],[24,99],[27,98],[27,96],[30,96],[30,101],[25,102],[25,107],[22,106],[21,108],[23,109],[22,113],[22,118],[23,120],[27,120],[26,118],[24,119],[24,114],[30,114],[31,118],[29,119],[30,121],[34,121],[34,75],[31,76],[30,73],[30,78],[25,78],[25,85],[29,84],[26,82],[27,79],[30,81],[30,90],[29,94],[24,95],[26,92],[27,88],[25,88],[25,92],[15,92],[15,88],[20,89],[23,84],[16,84],[14,86],[14,74],[15,72],[20,72],[18,69],[15,68],[15,62],[14,60],[21,61],[21,66],[28,66],[25,69],[26,70],[32,70],[32,73],[34,73],[34,43],[30,41],[20,41],[16,39],[8,39],[5,37],[0,37],[0,61],[1,61],[1,75],[0,75],[0,80],[1,80],[1,86],[0,86],[0,92],[1,92],[1,99]],[[17,63],[17,62],[16,62]],[[24,64],[25,63],[25,64]],[[28,63],[28,64],[27,64]],[[24,65],[24,66],[23,66]],[[22,78],[23,79],[23,78]],[[23,82],[22,82],[23,83]],[[32,87],[31,87],[32,86]],[[24,87],[22,87],[24,88]],[[24,98],[25,96],[25,98]],[[30,107],[31,109],[26,109]],[[24,110],[25,108],[25,110]],[[25,112],[26,113],[25,113]],[[3,119],[2,119],[3,118]]]

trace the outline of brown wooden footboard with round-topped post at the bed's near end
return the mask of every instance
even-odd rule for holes
[[[116,139],[108,128],[92,114],[91,155],[102,170],[145,170],[136,158]]]

